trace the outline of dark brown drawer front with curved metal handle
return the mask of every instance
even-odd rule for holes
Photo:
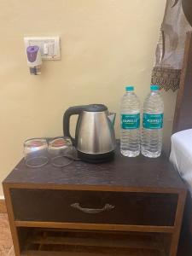
[[[10,189],[15,220],[174,225],[177,194]]]

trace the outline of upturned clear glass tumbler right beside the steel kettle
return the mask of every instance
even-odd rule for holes
[[[53,166],[67,166],[73,162],[73,144],[69,137],[56,137],[49,141],[49,158]]]

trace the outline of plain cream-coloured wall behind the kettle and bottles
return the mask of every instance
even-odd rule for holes
[[[1,181],[22,157],[26,138],[62,134],[62,114],[69,106],[102,102],[119,113],[125,84],[135,84],[143,101],[148,93],[165,3],[166,0],[0,1]],[[42,74],[31,76],[23,37],[47,35],[61,36],[62,59],[44,61]],[[176,95],[171,91],[163,95],[168,145]]]

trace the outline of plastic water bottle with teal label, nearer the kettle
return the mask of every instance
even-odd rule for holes
[[[140,102],[133,86],[126,86],[125,90],[120,108],[120,152],[135,157],[140,154]]]

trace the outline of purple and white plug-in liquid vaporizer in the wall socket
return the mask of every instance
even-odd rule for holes
[[[37,45],[28,46],[26,49],[27,65],[32,75],[41,73],[42,58],[40,48]]]

